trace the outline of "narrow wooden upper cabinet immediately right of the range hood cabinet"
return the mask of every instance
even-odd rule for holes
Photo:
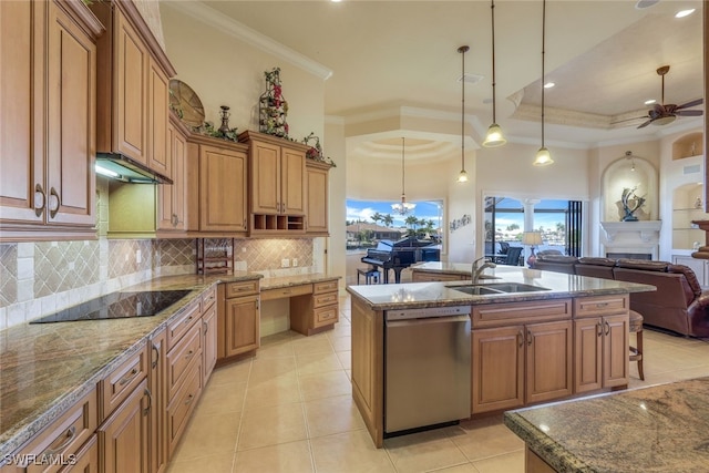
[[[172,160],[172,185],[157,186],[157,230],[169,236],[187,230],[187,135],[188,130],[171,113],[167,126],[168,157]],[[192,192],[197,192],[194,188]]]

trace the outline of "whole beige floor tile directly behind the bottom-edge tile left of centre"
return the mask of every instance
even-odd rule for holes
[[[237,450],[306,440],[302,409],[301,403],[296,403],[244,411]]]

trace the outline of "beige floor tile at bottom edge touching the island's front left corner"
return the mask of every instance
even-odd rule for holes
[[[376,449],[364,430],[321,436],[310,441],[318,473],[393,473],[384,449]]]

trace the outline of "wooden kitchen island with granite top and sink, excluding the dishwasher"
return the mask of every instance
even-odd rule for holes
[[[352,398],[377,446],[389,433],[389,311],[470,309],[470,415],[627,387],[629,294],[654,286],[522,267],[497,267],[486,277],[495,279],[347,288]]]

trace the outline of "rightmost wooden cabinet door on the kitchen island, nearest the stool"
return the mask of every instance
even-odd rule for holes
[[[628,383],[628,316],[603,318],[603,384],[604,388]]]

